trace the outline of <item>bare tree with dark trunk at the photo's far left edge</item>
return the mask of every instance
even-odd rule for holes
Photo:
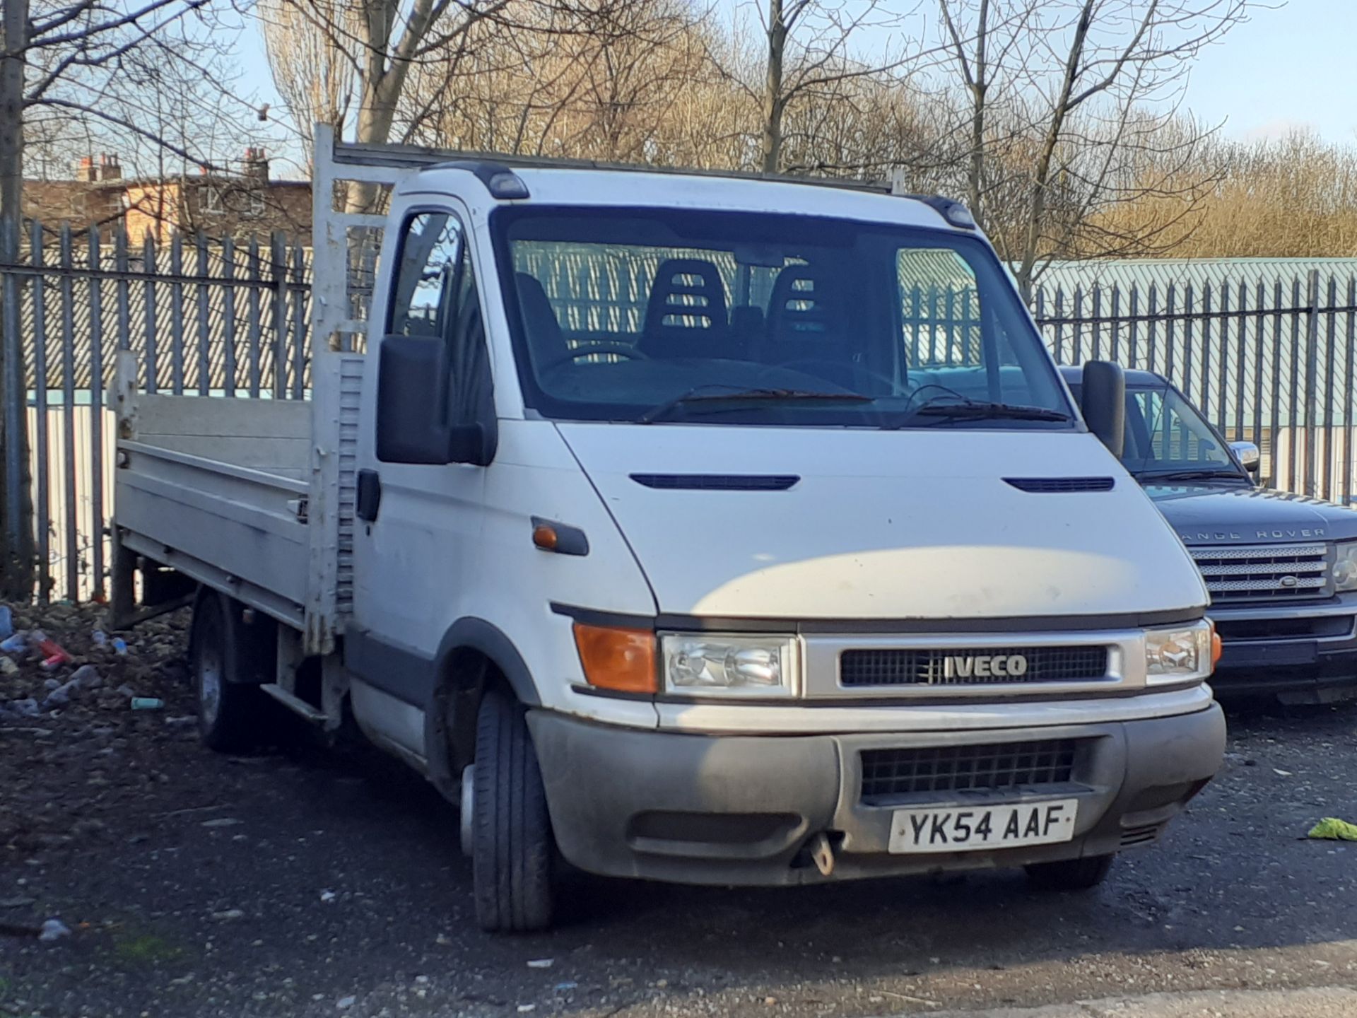
[[[49,156],[117,140],[161,164],[171,157],[182,172],[186,164],[209,166],[210,153],[233,133],[227,121],[239,125],[240,115],[252,113],[223,76],[223,26],[209,3],[4,0],[0,262],[18,261],[26,137],[43,144]],[[232,117],[224,117],[228,107]],[[14,273],[5,273],[0,303],[0,595],[26,597],[33,588],[33,510]]]

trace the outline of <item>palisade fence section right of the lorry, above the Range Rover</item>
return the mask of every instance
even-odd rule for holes
[[[1267,483],[1346,505],[1357,487],[1357,262],[1289,277],[1267,265],[1197,284],[1049,285],[1033,314],[1060,364],[1159,372],[1229,441],[1259,447]]]

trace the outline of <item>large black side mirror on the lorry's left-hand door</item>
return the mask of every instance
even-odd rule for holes
[[[445,423],[446,404],[444,343],[419,335],[385,337],[377,360],[377,459],[489,466],[494,441],[486,426]]]

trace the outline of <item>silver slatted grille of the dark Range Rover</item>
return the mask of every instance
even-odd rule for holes
[[[1329,548],[1322,543],[1191,548],[1191,557],[1217,604],[1300,600],[1333,593]]]

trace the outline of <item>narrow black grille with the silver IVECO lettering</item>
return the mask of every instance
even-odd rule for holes
[[[993,673],[997,661],[1003,675]],[[878,649],[839,657],[839,683],[845,687],[1077,683],[1106,675],[1107,647],[1099,646]]]

